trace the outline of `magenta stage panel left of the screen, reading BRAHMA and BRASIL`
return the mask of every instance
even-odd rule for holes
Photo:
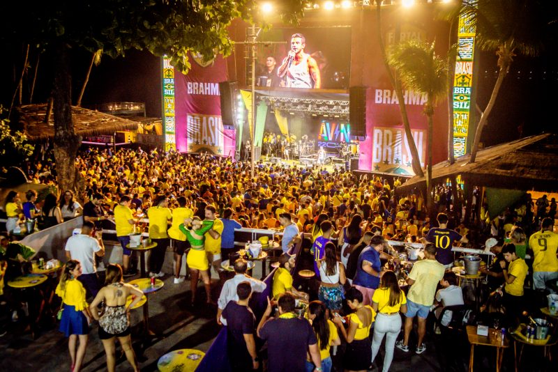
[[[188,75],[174,70],[176,150],[234,157],[234,128],[223,127],[219,82],[227,81],[227,62],[218,56],[211,63],[189,56]]]

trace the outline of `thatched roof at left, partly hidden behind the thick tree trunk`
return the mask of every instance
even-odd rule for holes
[[[47,104],[26,104],[17,109],[18,122],[30,141],[44,141],[54,138],[54,115],[45,123]],[[75,134],[82,137],[98,134],[112,134],[118,130],[137,130],[137,122],[99,111],[72,106]]]

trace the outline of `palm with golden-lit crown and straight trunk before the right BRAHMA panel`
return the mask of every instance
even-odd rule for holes
[[[389,49],[389,63],[398,72],[403,84],[426,95],[424,114],[428,117],[428,162],[426,166],[426,200],[428,213],[432,203],[432,137],[435,105],[446,97],[448,84],[446,61],[435,54],[435,42],[408,40]]]

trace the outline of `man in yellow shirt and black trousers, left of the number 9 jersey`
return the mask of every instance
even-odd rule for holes
[[[523,258],[519,258],[515,254],[515,245],[508,243],[502,247],[504,261],[500,261],[502,273],[504,274],[504,306],[506,307],[506,315],[512,322],[517,323],[520,313],[525,307],[523,302],[523,284],[527,277],[527,263]],[[506,262],[509,263],[506,269]]]

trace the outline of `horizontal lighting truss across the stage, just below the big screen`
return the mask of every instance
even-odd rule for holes
[[[289,98],[260,95],[260,101],[269,104],[273,109],[289,113],[302,113],[311,116],[349,117],[349,101],[316,100],[312,98]]]

